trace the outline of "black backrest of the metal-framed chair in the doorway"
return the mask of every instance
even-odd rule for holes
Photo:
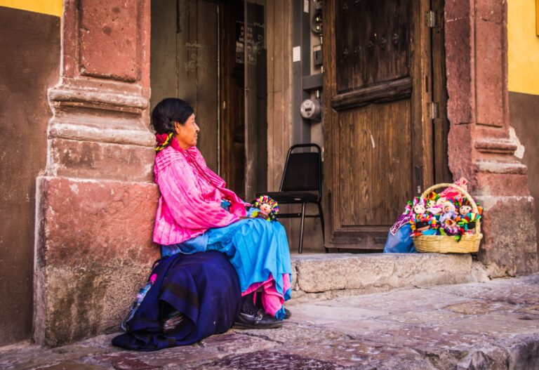
[[[300,147],[314,147],[316,152],[293,152]],[[318,191],[321,197],[322,159],[320,147],[316,144],[293,145],[286,155],[281,192]]]

